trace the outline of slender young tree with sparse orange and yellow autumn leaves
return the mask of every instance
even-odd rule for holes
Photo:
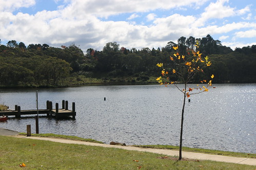
[[[210,66],[211,62],[209,61],[208,56],[201,57],[200,51],[197,51],[199,48],[199,42],[196,41],[195,51],[192,49],[187,49],[186,55],[180,54],[178,52],[178,45],[173,46],[173,49],[176,51],[173,54],[173,57],[170,57],[171,63],[164,66],[163,63],[157,63],[156,65],[159,67],[163,67],[161,72],[162,76],[157,78],[156,80],[160,83],[160,85],[174,85],[183,93],[183,107],[182,107],[182,116],[181,116],[181,133],[180,133],[180,153],[179,160],[182,159],[182,135],[183,135],[183,120],[184,120],[184,110],[186,98],[189,98],[190,95],[199,94],[204,91],[208,91],[208,87],[211,86],[212,79],[214,75],[211,75],[211,80],[208,81],[207,85],[203,83],[207,83],[206,80],[202,80],[202,85],[197,85],[195,88],[188,87],[189,83],[192,83],[193,78],[204,72],[203,68]],[[182,50],[184,51],[184,50]],[[174,81],[177,80],[177,81]],[[183,88],[180,88],[176,83],[184,84]]]

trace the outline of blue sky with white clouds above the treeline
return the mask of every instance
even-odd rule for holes
[[[256,44],[255,0],[0,0],[0,39],[102,50],[164,47],[210,34],[223,45]]]

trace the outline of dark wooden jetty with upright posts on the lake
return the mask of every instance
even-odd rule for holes
[[[15,116],[16,118],[21,115],[37,114],[37,110],[21,110],[21,106],[15,105],[15,110],[0,111],[1,115]],[[72,110],[68,110],[68,101],[62,101],[62,108],[58,107],[58,103],[55,104],[55,109],[52,109],[52,102],[46,102],[46,109],[38,109],[38,114],[46,114],[47,116],[53,116],[56,118],[63,118],[72,116],[75,118],[75,103],[72,103]]]

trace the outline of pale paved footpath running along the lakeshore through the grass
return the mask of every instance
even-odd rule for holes
[[[16,133],[10,132],[10,131],[7,131],[5,134],[3,134],[2,133],[3,131],[5,131],[5,130],[3,130],[3,129],[1,130],[1,128],[0,128],[0,135],[13,136],[13,137],[18,137],[18,138],[26,138],[26,139],[47,140],[47,141],[60,142],[60,143],[84,144],[84,145],[91,145],[91,146],[95,146],[95,147],[119,148],[119,149],[124,149],[124,150],[129,150],[129,151],[151,152],[151,153],[163,154],[163,155],[168,155],[168,156],[179,156],[179,151],[172,151],[172,150],[138,148],[138,147],[130,147],[130,146],[124,147],[124,146],[119,146],[119,145],[92,143],[92,142],[85,142],[85,141],[48,138],[48,137],[17,136]],[[229,162],[229,163],[238,163],[238,164],[247,164],[247,165],[255,165],[256,166],[256,159],[252,159],[252,158],[239,158],[239,157],[232,157],[232,156],[210,155],[210,154],[195,153],[195,152],[182,152],[182,156],[184,158],[189,158],[189,159],[213,160],[213,161],[219,161],[219,162]]]

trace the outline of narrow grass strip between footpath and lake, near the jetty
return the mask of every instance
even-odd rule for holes
[[[27,135],[27,133],[19,133],[20,135]],[[97,141],[94,139],[85,139],[82,137],[77,136],[67,136],[67,135],[56,135],[53,133],[45,133],[45,134],[31,134],[31,136],[40,136],[40,137],[55,137],[55,138],[62,138],[62,139],[70,139],[70,140],[81,140],[81,141],[88,141],[94,143],[103,143],[101,141]]]

